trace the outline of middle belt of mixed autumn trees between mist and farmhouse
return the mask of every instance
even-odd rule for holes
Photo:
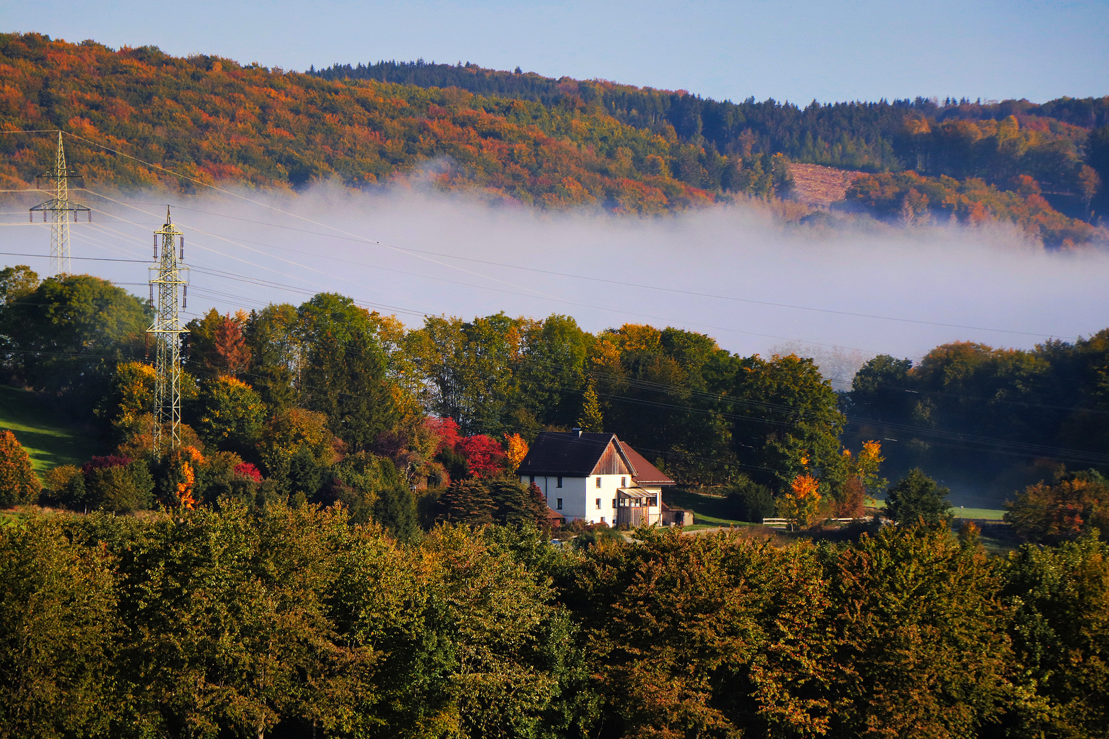
[[[147,304],[95,277],[40,281],[26,267],[0,271],[0,291],[9,380],[94,424],[113,459],[149,456]],[[349,504],[344,474],[365,478],[370,499],[445,489],[511,471],[539,431],[571,428],[617,433],[686,486],[781,503],[810,485],[818,510],[806,517],[861,513],[884,490],[878,466],[892,480],[920,468],[995,502],[1066,470],[1109,469],[1109,331],[1032,350],[955,342],[917,366],[879,356],[836,392],[811,359],[733,355],[675,328],[594,335],[561,315],[428,317],[406,329],[319,294],[301,306],[211,310],[187,329],[190,464],[215,465],[195,481],[197,501],[238,485],[235,469],[255,471],[241,492],[257,500]],[[201,463],[205,454],[218,463]],[[343,464],[357,469],[340,474]],[[79,496],[70,473],[55,474],[50,494]],[[172,502],[179,482],[166,478],[129,507]]]

